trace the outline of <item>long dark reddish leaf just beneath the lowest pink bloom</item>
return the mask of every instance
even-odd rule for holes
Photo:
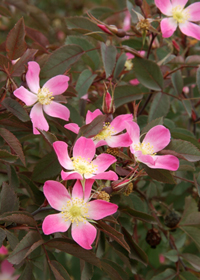
[[[92,265],[101,267],[100,260],[95,256],[92,251],[88,251],[80,247],[73,240],[69,238],[54,238],[45,243],[45,246],[49,248],[58,249],[62,252],[66,252],[74,257],[82,259]]]

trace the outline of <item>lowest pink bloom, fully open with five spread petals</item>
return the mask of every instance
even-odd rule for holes
[[[90,200],[94,180],[85,181],[85,191],[79,180],[76,181],[72,194],[59,182],[47,181],[44,195],[52,208],[60,213],[47,216],[42,224],[44,234],[65,232],[70,225],[72,238],[84,249],[92,249],[97,230],[90,223],[112,215],[117,211],[116,204],[104,200]]]

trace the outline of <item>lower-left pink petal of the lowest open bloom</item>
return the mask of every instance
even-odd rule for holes
[[[71,225],[71,221],[65,221],[63,218],[63,214],[52,214],[48,215],[43,223],[42,223],[42,230],[44,234],[51,234],[54,232],[65,232]]]

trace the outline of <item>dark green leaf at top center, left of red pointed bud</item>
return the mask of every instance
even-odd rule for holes
[[[88,34],[89,36],[102,42],[106,40],[106,35],[103,33],[103,31],[86,17],[68,17],[66,19],[66,24],[68,29],[82,34]]]

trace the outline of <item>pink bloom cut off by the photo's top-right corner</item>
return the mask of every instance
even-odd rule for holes
[[[160,11],[168,16],[161,21],[161,32],[164,38],[172,36],[177,26],[187,36],[200,40],[200,26],[192,22],[200,21],[200,2],[184,8],[187,0],[155,0]]]

